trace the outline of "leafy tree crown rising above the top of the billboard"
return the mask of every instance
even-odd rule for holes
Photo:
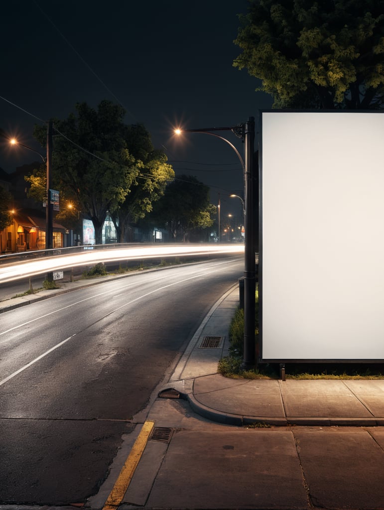
[[[384,106],[384,0],[248,0],[239,69],[276,108]]]

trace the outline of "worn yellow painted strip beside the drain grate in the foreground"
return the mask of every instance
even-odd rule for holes
[[[137,465],[140,462],[144,448],[147,444],[149,435],[152,431],[155,422],[147,420],[144,422],[142,429],[140,430],[139,436],[137,437],[135,444],[132,447],[130,454],[127,456],[124,466],[122,467],[120,474],[113,486],[110,495],[105,502],[103,510],[115,510],[122,501],[124,494],[131,483],[132,477],[135,473]]]

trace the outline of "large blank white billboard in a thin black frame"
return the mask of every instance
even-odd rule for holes
[[[262,361],[384,360],[384,113],[261,112]]]

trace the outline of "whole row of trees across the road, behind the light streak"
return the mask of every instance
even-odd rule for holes
[[[208,187],[190,176],[174,181],[164,152],[153,147],[142,124],[123,122],[122,107],[104,100],[97,109],[80,103],[75,110],[67,119],[53,121],[52,186],[62,204],[58,221],[73,228],[80,217],[91,219],[96,244],[107,214],[118,242],[125,242],[130,225],[146,216],[167,228],[174,240],[186,240],[189,231],[212,225]],[[43,146],[46,127],[36,125],[34,136]],[[45,165],[25,179],[28,196],[45,200]]]

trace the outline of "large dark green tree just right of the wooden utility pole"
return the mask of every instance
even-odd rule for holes
[[[143,168],[127,149],[124,113],[104,100],[97,110],[77,104],[76,114],[54,121],[53,186],[93,221],[97,244],[107,212],[117,210]],[[35,126],[34,135],[43,145],[45,127]]]

